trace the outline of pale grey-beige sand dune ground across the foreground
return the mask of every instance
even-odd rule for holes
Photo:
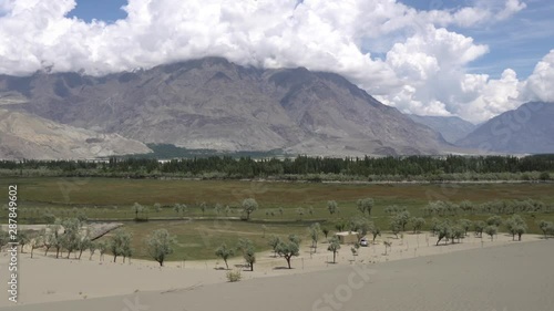
[[[356,261],[342,246],[336,265],[326,243],[316,255],[305,247],[290,270],[285,259],[258,253],[255,271],[243,271],[236,283],[217,260],[158,268],[135,259],[113,263],[111,256],[89,260],[88,253],[55,259],[39,249],[33,259],[20,253],[19,302],[3,291],[0,310],[554,310],[554,239],[471,236],[447,246],[434,246],[429,234],[384,239],[392,242],[387,255],[382,240],[360,248]],[[3,251],[6,289],[7,263]],[[233,269],[242,263],[229,260]]]

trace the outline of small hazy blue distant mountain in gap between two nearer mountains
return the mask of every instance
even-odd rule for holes
[[[465,137],[468,134],[473,132],[476,126],[458,116],[431,116],[431,115],[408,115],[412,121],[427,125],[432,129],[441,133],[442,137],[449,143],[455,143],[456,141]]]

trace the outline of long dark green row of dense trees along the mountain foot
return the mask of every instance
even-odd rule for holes
[[[1,160],[0,169],[45,169],[64,175],[110,176],[126,173],[134,176],[214,174],[219,178],[254,178],[287,175],[347,175],[347,176],[441,176],[444,174],[499,174],[543,172],[541,179],[550,179],[554,172],[554,155],[514,156],[388,156],[388,157],[308,157],[294,159],[212,156],[158,162],[148,158],[116,158],[96,160]],[[463,177],[463,176],[462,176]],[[315,179],[319,178],[317,176]],[[468,178],[468,176],[465,176]],[[522,176],[521,178],[529,178]]]

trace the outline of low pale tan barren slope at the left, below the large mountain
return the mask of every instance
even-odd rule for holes
[[[0,108],[0,159],[86,159],[151,152],[117,134],[99,134]]]

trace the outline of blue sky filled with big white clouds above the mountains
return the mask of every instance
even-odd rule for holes
[[[0,73],[223,56],[343,75],[403,113],[479,123],[554,102],[551,0],[0,0]]]

